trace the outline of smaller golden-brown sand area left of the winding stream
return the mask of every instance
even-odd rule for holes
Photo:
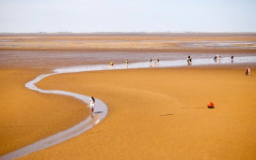
[[[70,128],[88,116],[85,105],[72,97],[39,94],[24,87],[43,72],[0,70],[0,155]]]

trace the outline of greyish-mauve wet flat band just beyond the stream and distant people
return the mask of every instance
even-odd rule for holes
[[[131,65],[140,62],[149,62],[150,59],[164,61],[184,60],[188,54],[193,59],[213,59],[216,53],[200,52],[130,52],[130,51],[109,51],[109,52],[88,52],[88,51],[0,51],[0,68],[50,68],[67,67],[77,65],[109,65],[124,64],[128,59]],[[221,53],[222,57],[251,56],[247,53]],[[254,54],[256,56],[256,53]]]

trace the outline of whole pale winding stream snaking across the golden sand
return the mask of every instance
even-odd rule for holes
[[[256,56],[243,56],[243,57],[235,57],[233,59],[233,64],[247,64],[247,63],[256,63]],[[193,60],[193,65],[230,65],[231,60],[229,57],[224,57],[221,59],[219,63],[213,61],[212,58],[204,58],[204,59],[195,59]],[[187,65],[185,60],[175,60],[175,61],[161,61],[158,65],[160,67],[175,67],[175,66],[184,66]],[[145,68],[149,67],[148,62],[141,62],[129,65],[129,68]],[[61,73],[73,73],[73,72],[82,72],[82,71],[95,71],[95,70],[110,70],[110,69],[123,69],[127,68],[126,65],[115,65],[114,67],[110,67],[109,65],[84,65],[84,66],[73,66],[73,67],[65,67],[65,68],[57,68],[54,73],[40,75],[34,80],[31,80],[25,84],[30,90],[34,90],[43,94],[56,94],[56,95],[69,95],[73,96],[79,100],[82,100],[84,103],[88,104],[89,96],[87,95],[79,95],[66,91],[59,90],[42,90],[38,88],[35,84],[40,80]],[[31,145],[28,145],[22,149],[19,149],[15,152],[5,154],[0,157],[0,160],[8,160],[8,159],[16,159],[22,157],[28,153],[34,153],[36,151],[40,151],[42,149],[48,148],[50,146],[56,145],[62,141],[65,141],[70,138],[74,138],[78,135],[81,135],[88,129],[92,128],[94,125],[99,124],[107,114],[107,107],[103,101],[96,98],[96,108],[94,111],[94,117],[88,117],[85,121],[80,124],[76,124],[65,131],[59,132],[54,136],[49,138],[41,139],[38,142],[35,142]]]

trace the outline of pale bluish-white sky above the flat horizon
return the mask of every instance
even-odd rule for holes
[[[0,0],[0,32],[256,32],[256,0]]]

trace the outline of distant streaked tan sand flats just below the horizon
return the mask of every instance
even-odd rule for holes
[[[255,34],[0,35],[1,51],[255,52]]]

